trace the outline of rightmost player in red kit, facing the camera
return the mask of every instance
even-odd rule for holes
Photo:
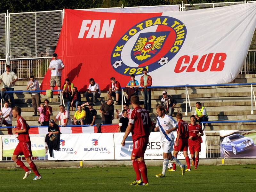
[[[188,147],[192,158],[192,166],[195,165],[197,169],[199,163],[199,152],[201,151],[201,143],[203,142],[202,137],[204,132],[199,124],[196,124],[196,116],[190,116],[191,123],[188,124],[189,138]],[[195,157],[196,155],[196,157]]]

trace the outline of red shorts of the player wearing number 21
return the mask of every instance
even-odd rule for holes
[[[148,145],[148,138],[140,137],[138,140],[133,141],[132,156],[144,157]]]

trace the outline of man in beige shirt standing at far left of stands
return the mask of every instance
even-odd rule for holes
[[[3,88],[6,89],[6,91],[14,91],[14,85],[15,82],[18,81],[17,75],[11,71],[11,66],[6,65],[6,71],[0,76],[0,84],[3,82]],[[10,97],[12,108],[15,106],[13,93],[7,93],[5,94],[4,100],[8,100],[8,95]]]

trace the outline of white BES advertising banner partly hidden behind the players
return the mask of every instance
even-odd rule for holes
[[[174,132],[175,139],[177,137],[177,132]],[[121,142],[123,140],[124,133],[114,133],[114,141],[115,141],[115,159],[130,159],[133,143],[132,143],[132,135],[130,134],[126,141],[125,146],[121,146]],[[205,158],[205,136],[203,136],[203,143],[201,143],[201,152],[199,153],[200,158]],[[188,149],[188,156],[190,156]],[[148,147],[145,152],[144,159],[163,159],[163,149],[162,143],[160,141],[160,133],[159,132],[151,132],[148,141]],[[183,156],[183,152],[178,153],[178,159],[185,159]]]

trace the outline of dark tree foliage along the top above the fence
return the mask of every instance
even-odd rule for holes
[[[236,2],[241,0],[183,0],[184,4]],[[0,13],[52,11],[67,9],[89,9],[106,7],[152,6],[181,4],[182,0],[0,0]]]

